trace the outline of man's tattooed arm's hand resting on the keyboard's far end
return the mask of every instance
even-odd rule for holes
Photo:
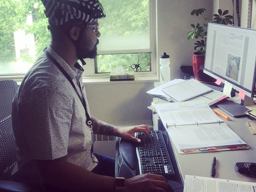
[[[127,141],[141,142],[140,139],[134,137],[135,132],[145,132],[148,136],[150,129],[146,125],[136,125],[124,128],[116,128],[116,135]]]

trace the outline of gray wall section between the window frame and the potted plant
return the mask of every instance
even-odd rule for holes
[[[190,16],[196,8],[206,8],[205,17],[210,18],[212,0],[158,0],[157,3],[157,51],[170,55],[171,78],[180,78],[180,66],[191,65],[194,40],[187,40],[186,34],[192,29],[190,24],[200,23],[201,16]]]

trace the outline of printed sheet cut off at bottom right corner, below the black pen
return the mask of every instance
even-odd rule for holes
[[[255,192],[256,183],[186,175],[183,192]]]

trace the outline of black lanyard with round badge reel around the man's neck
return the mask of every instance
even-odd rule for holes
[[[68,81],[70,82],[70,84],[72,85],[72,87],[74,88],[77,96],[79,97],[80,101],[82,102],[83,106],[84,106],[84,110],[85,110],[85,115],[86,115],[86,125],[89,128],[92,128],[92,119],[90,118],[87,108],[86,108],[86,102],[82,93],[82,89],[80,86],[80,82],[78,84],[79,89],[81,91],[82,97],[80,96],[80,94],[78,94],[78,91],[76,90],[76,86],[74,85],[72,79],[70,78],[70,76],[68,75],[68,73],[64,70],[64,68],[62,68],[62,66],[60,66],[60,64],[51,56],[51,54],[45,49],[44,50],[45,54],[48,56],[48,58],[59,68],[59,70],[64,74],[64,76],[68,79]]]

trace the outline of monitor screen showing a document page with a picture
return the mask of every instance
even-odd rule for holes
[[[256,30],[208,23],[204,73],[252,97],[255,64]]]

